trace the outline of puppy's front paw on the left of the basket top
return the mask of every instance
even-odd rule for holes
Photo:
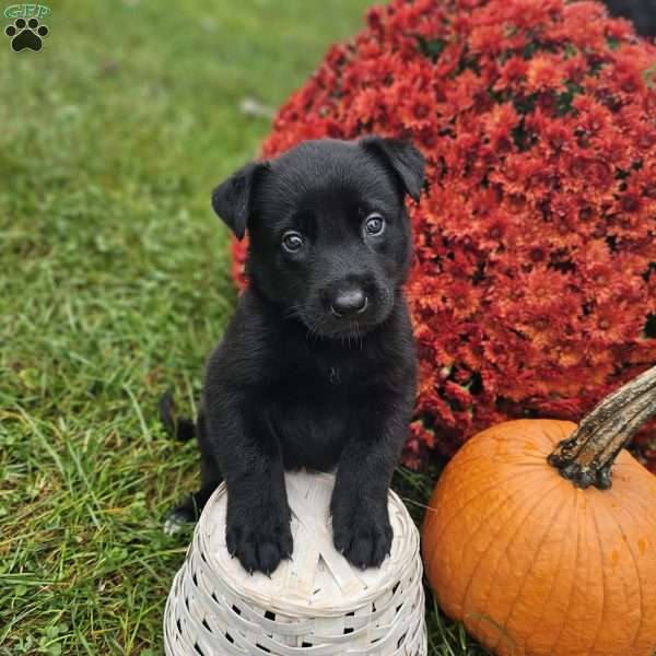
[[[273,506],[229,518],[225,542],[247,572],[271,574],[294,548],[289,508]]]

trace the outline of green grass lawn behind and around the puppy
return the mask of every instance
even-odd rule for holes
[[[210,190],[367,0],[50,3],[0,47],[0,654],[160,654],[188,409],[235,304]],[[2,19],[2,30],[9,20]],[[418,518],[431,480],[399,472]],[[430,599],[431,654],[482,654]]]

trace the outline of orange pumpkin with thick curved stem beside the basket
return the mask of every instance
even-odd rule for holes
[[[472,437],[423,527],[443,610],[503,656],[653,656],[656,477],[622,445],[655,413],[656,367],[578,427],[519,420]]]

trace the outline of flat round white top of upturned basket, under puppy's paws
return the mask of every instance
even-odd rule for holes
[[[327,473],[285,475],[292,511],[294,552],[266,576],[248,574],[225,546],[226,488],[221,485],[208,502],[199,526],[199,542],[208,565],[221,572],[224,585],[272,611],[321,617],[343,614],[368,597],[391,588],[412,569],[419,536],[400,499],[389,494],[394,530],[390,555],[380,567],[354,569],[332,544],[329,515],[335,477]]]

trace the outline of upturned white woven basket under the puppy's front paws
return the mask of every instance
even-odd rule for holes
[[[389,494],[391,554],[356,570],[332,546],[335,479],[286,475],[294,553],[271,577],[249,575],[225,548],[225,487],[212,495],[164,614],[169,656],[425,656],[419,534]]]

